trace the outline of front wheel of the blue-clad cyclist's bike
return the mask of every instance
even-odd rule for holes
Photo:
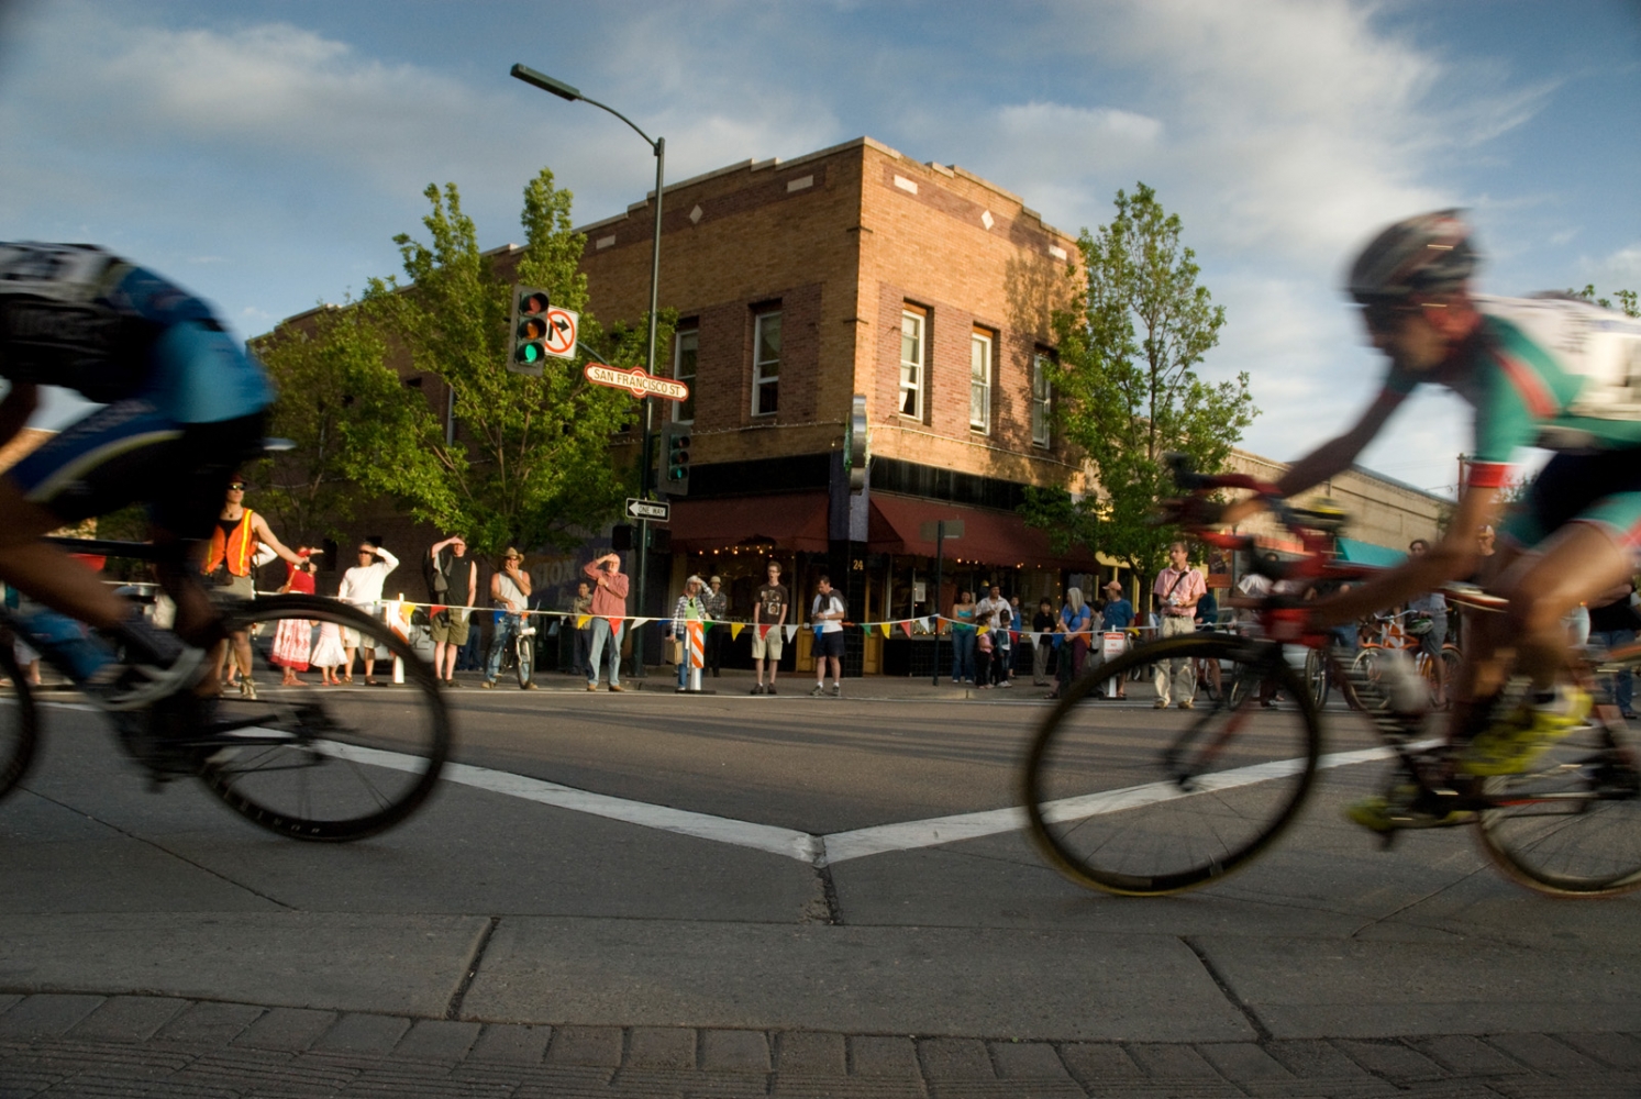
[[[310,635],[325,623],[356,632],[359,648],[387,650],[404,663],[405,686],[271,686],[271,673],[281,671],[271,661],[274,638],[286,622],[305,622]],[[253,679],[269,686],[258,699],[223,699],[200,768],[205,786],[248,820],[297,840],[358,840],[415,812],[450,753],[433,668],[384,622],[328,599],[276,595],[228,617],[230,630],[254,625],[264,628],[251,643]]]

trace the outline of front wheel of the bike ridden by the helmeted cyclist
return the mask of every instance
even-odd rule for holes
[[[1170,658],[1231,661],[1219,702],[1193,710],[1085,705],[1081,676],[1037,728],[1024,766],[1027,828],[1072,881],[1159,896],[1246,864],[1293,820],[1316,774],[1321,733],[1298,674],[1268,643],[1193,635],[1145,645],[1106,664]],[[1273,677],[1298,710],[1259,705]]]

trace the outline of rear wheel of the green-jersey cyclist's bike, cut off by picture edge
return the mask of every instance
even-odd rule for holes
[[[1579,730],[1531,773],[1485,779],[1482,789],[1503,804],[1482,810],[1477,837],[1511,879],[1582,897],[1641,886],[1641,769],[1633,741],[1621,743],[1600,725]]]

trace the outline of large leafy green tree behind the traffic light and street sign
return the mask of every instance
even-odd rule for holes
[[[542,377],[509,372],[512,279],[481,254],[455,184],[443,194],[428,185],[425,195],[430,241],[394,238],[409,282],[373,279],[364,307],[415,369],[451,385],[459,431],[446,440],[443,410],[412,392],[400,415],[350,423],[353,474],[415,518],[463,531],[478,551],[573,540],[576,528],[614,517],[637,481],[635,467],[615,467],[609,454],[610,435],[635,418],[637,402],[589,384],[583,359],[550,359]],[[578,269],[586,238],[571,230],[569,203],[546,169],[525,187],[515,279],[579,312],[583,343],[606,361],[635,366],[647,318],[604,333],[587,313]],[[671,313],[661,318],[658,346],[670,344],[674,323]]]

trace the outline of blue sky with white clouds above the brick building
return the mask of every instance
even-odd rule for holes
[[[1641,289],[1641,0],[0,0],[0,239],[103,243],[249,336],[397,271],[428,182],[486,246],[542,164],[579,223],[640,198],[643,143],[515,61],[665,135],[670,179],[870,135],[1073,233],[1154,185],[1272,458],[1375,389],[1337,280],[1385,221],[1469,207],[1488,292]],[[1421,395],[1365,463],[1449,487],[1464,425]]]

